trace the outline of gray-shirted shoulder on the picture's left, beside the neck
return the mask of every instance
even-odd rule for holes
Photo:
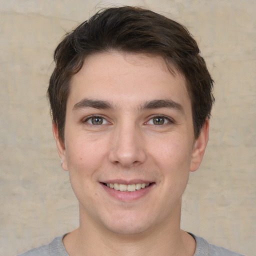
[[[62,242],[63,236],[55,237],[50,243],[28,250],[17,256],[68,256]]]

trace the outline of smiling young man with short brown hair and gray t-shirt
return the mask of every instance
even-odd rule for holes
[[[212,79],[182,25],[108,8],[57,46],[48,96],[79,227],[25,255],[239,255],[180,229],[208,139]]]

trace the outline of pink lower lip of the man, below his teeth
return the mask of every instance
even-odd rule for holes
[[[113,188],[110,188],[110,187],[102,184],[102,183],[101,183],[101,186],[109,195],[111,195],[112,197],[114,197],[120,201],[134,201],[134,200],[141,198],[145,194],[147,194],[152,189],[154,184],[152,183],[145,188],[140,188],[140,189],[132,191],[132,192],[115,190]]]

